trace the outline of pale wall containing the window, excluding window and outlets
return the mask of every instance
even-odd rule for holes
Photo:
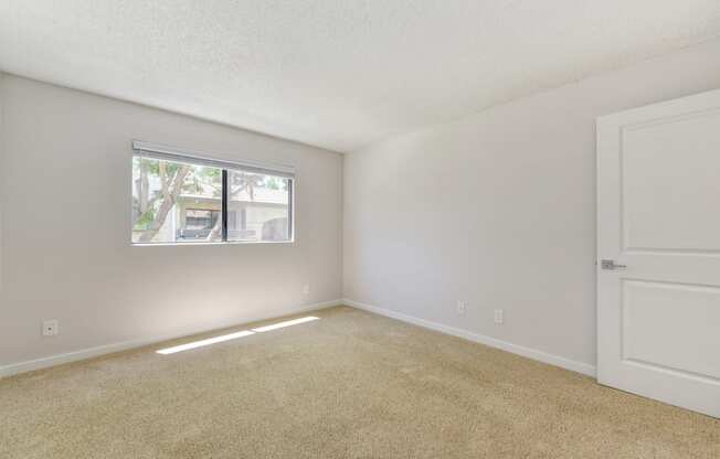
[[[0,102],[0,366],[340,298],[340,154],[10,75]],[[133,139],[295,166],[297,242],[131,246]]]

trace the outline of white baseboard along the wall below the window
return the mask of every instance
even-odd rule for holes
[[[331,308],[333,306],[339,306],[339,305],[342,305],[342,300],[332,300],[332,301],[318,302],[318,303],[314,303],[314,305],[296,306],[296,307],[293,307],[293,308],[288,308],[286,311],[283,312],[283,316],[296,314],[296,313],[301,313],[301,312],[307,312],[307,311],[315,311],[315,310],[318,310],[318,309]],[[258,317],[258,318],[253,318],[251,320],[247,320],[247,322],[255,322],[255,321],[261,321],[261,320],[271,320],[271,319],[275,319],[278,316]],[[227,327],[223,327],[223,329],[231,328],[231,327],[235,327],[235,325],[230,324]],[[241,324],[237,324],[237,327],[241,327]],[[60,364],[63,364],[63,363],[76,362],[76,361],[80,361],[80,360],[87,360],[87,359],[96,357],[96,356],[99,356],[99,355],[112,354],[112,353],[115,353],[115,352],[126,351],[126,350],[135,349],[135,348],[142,348],[142,346],[146,346],[146,345],[160,343],[162,341],[176,340],[178,338],[189,337],[189,335],[192,335],[192,334],[207,333],[207,332],[211,332],[213,330],[219,330],[219,329],[218,328],[212,328],[212,329],[183,330],[182,332],[176,332],[176,333],[172,333],[172,334],[157,335],[157,337],[144,338],[144,339],[139,339],[139,340],[123,341],[123,342],[119,342],[119,343],[98,345],[96,348],[83,349],[83,350],[80,350],[80,351],[67,352],[67,353],[64,353],[64,354],[56,354],[56,355],[51,355],[51,356],[47,356],[47,357],[30,360],[30,361],[27,361],[27,362],[12,363],[10,365],[0,366],[0,378],[6,377],[6,376],[11,376],[11,375],[14,375],[14,374],[31,372],[31,371],[34,371],[34,370],[46,369],[46,367],[60,365]]]

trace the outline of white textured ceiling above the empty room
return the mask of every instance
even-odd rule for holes
[[[0,70],[351,151],[719,32],[719,0],[0,0]]]

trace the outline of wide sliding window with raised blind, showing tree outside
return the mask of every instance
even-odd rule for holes
[[[294,172],[134,142],[133,243],[293,239]]]

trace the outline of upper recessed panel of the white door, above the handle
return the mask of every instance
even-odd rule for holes
[[[720,250],[718,126],[710,111],[622,129],[626,250]]]

